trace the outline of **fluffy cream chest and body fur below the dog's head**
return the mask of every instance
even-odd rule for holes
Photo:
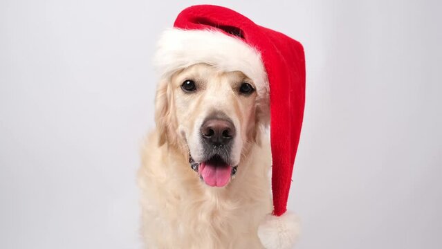
[[[268,142],[252,145],[236,178],[217,188],[204,185],[185,156],[156,141],[156,133],[147,139],[138,172],[147,248],[262,248],[257,228],[271,212]]]

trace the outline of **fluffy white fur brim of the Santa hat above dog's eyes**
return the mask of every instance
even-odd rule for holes
[[[253,81],[260,96],[268,93],[268,80],[261,54],[240,38],[217,30],[165,30],[158,42],[156,68],[162,77],[205,63],[220,71],[241,71]]]

